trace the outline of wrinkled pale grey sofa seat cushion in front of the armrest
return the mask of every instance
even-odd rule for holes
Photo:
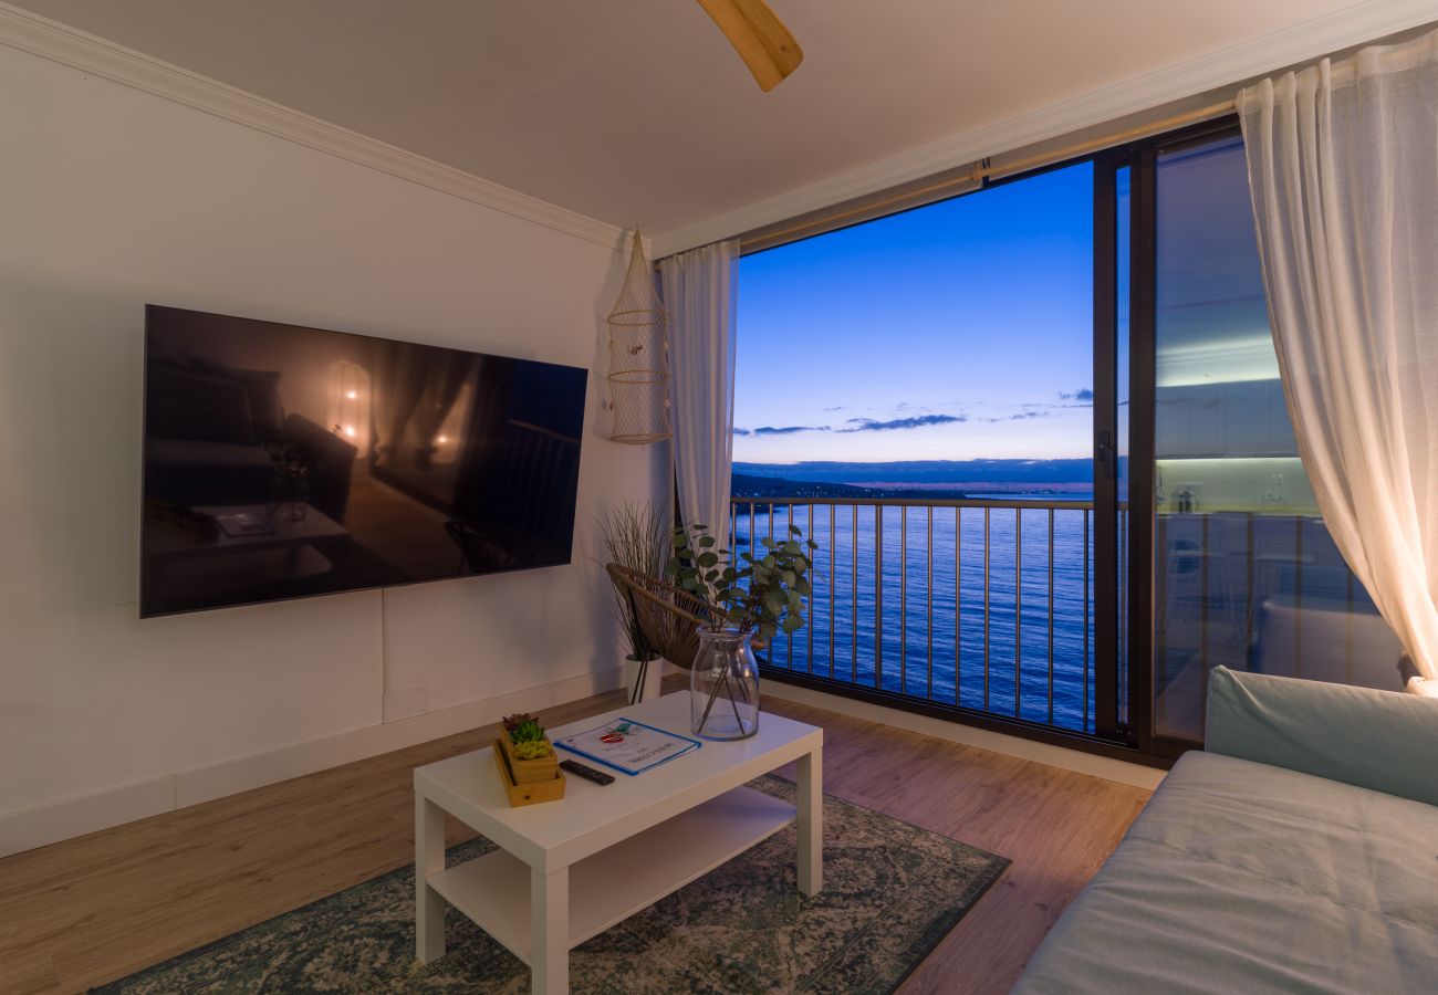
[[[1186,753],[1015,992],[1408,992],[1438,979],[1438,808]]]

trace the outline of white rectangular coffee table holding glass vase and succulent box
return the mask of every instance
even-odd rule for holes
[[[568,726],[620,716],[689,733],[689,693],[666,694]],[[798,886],[823,887],[824,730],[764,713],[759,732],[710,742],[600,787],[568,776],[562,801],[510,808],[492,748],[414,771],[416,949],[444,955],[446,902],[529,965],[536,995],[569,991],[569,949],[798,821]],[[564,758],[568,753],[561,751]],[[580,758],[582,762],[582,758]],[[798,808],[745,788],[798,761]],[[591,765],[592,766],[592,765]],[[444,812],[499,850],[444,868]]]

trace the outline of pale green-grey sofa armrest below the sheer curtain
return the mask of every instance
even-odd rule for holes
[[[1438,699],[1215,667],[1204,749],[1438,805]]]

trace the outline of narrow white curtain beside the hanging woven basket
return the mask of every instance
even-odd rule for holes
[[[733,355],[739,243],[716,242],[659,260],[669,312],[674,474],[686,525],[729,548]]]

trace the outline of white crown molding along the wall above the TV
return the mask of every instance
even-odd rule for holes
[[[401,180],[480,204],[555,231],[623,252],[624,231],[585,214],[490,183],[472,173],[308,114],[217,79],[0,1],[0,45],[162,96],[246,128],[367,165]]]

